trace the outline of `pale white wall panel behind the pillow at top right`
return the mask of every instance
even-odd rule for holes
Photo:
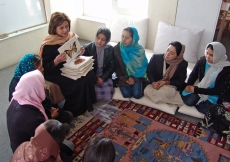
[[[198,49],[199,58],[206,45],[213,41],[222,1],[179,0],[175,25],[188,29],[203,29]],[[199,59],[198,58],[198,59]]]

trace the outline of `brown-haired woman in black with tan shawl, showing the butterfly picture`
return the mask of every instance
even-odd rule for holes
[[[72,80],[61,75],[61,68],[66,61],[66,54],[59,53],[58,48],[75,36],[70,32],[69,17],[60,12],[51,15],[49,35],[45,37],[40,48],[40,56],[43,59],[45,79],[60,86],[65,96],[64,109],[71,111],[74,116],[92,111],[92,104],[96,102],[94,88],[95,74],[90,71],[85,77]],[[84,50],[81,50],[84,53]]]

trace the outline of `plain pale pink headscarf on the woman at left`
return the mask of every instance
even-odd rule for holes
[[[45,99],[45,79],[39,70],[34,70],[24,74],[19,80],[13,99],[17,100],[20,105],[33,105],[40,110],[44,119],[48,120],[42,101]]]

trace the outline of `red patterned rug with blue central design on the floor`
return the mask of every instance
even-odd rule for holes
[[[76,144],[74,161],[81,161],[87,142],[96,134],[113,141],[116,162],[230,161],[226,138],[212,131],[133,102],[113,100],[110,105],[122,110],[116,116],[111,113],[112,123],[93,117],[68,138]]]

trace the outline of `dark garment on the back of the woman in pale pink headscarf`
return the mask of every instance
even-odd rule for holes
[[[17,147],[34,136],[35,129],[45,121],[44,115],[32,105],[20,105],[12,100],[7,110],[7,128],[10,146],[14,152]]]

